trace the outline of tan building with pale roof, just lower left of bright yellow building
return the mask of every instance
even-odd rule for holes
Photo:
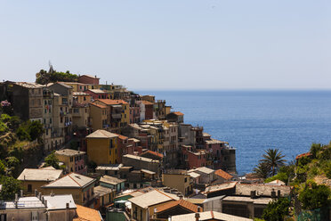
[[[59,161],[64,163],[67,173],[74,172],[84,175],[87,172],[87,168],[85,167],[85,151],[63,149],[61,151],[55,151],[55,156]]]

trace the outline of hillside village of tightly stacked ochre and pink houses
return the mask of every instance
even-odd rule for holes
[[[253,220],[293,195],[238,176],[236,148],[165,100],[55,73],[0,83],[1,221]]]

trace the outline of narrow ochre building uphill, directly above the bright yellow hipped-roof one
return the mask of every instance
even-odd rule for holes
[[[108,116],[107,106],[94,102],[90,103],[90,126],[93,128],[93,131],[108,128]]]

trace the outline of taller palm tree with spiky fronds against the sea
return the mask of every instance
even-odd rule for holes
[[[268,167],[271,169],[271,175],[275,176],[276,171],[281,166],[284,166],[285,162],[287,161],[283,159],[285,155],[282,155],[279,149],[268,149],[267,151],[265,151],[265,153],[266,154],[262,155],[263,159],[261,160],[261,162],[268,165]]]

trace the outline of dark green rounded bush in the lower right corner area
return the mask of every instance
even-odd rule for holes
[[[303,209],[322,209],[331,205],[331,191],[323,184],[307,182],[299,192],[299,201],[303,203]]]

